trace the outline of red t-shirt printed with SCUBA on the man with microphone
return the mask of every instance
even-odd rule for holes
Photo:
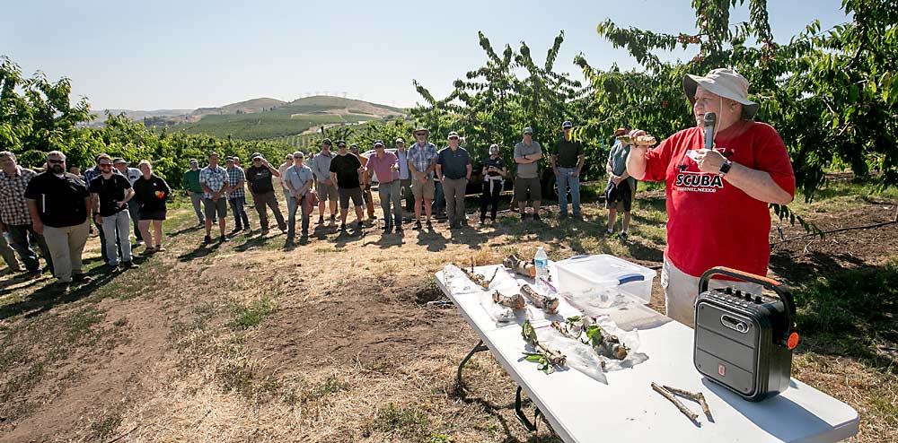
[[[699,171],[688,150],[704,147],[702,128],[691,127],[646,153],[646,180],[667,183],[665,256],[682,272],[700,276],[714,266],[766,275],[770,262],[770,209],[717,174]],[[714,137],[729,160],[770,173],[795,195],[786,145],[772,126],[741,121]]]

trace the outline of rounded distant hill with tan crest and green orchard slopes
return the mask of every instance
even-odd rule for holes
[[[260,140],[298,135],[319,126],[352,124],[406,115],[403,109],[339,97],[313,96],[289,103],[265,100],[271,99],[248,100],[217,108],[233,109],[232,113],[202,109],[204,112],[201,117],[192,121],[201,110],[197,109],[191,114],[189,123],[177,124],[172,129],[183,130],[190,134],[219,137],[231,135],[244,140]],[[260,106],[262,110],[251,113],[238,111],[249,109],[247,103]]]

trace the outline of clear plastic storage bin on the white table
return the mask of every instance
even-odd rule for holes
[[[616,256],[572,256],[555,263],[559,292],[583,293],[616,288],[648,303],[655,271]]]

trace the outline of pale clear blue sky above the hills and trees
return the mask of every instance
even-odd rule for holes
[[[25,74],[72,79],[92,109],[194,109],[257,97],[294,100],[327,91],[392,106],[419,100],[417,79],[437,97],[494,48],[524,40],[542,60],[559,30],[556,66],[581,78],[591,65],[635,67],[595,32],[619,26],[694,30],[691,0],[584,1],[172,1],[6,2],[0,54]],[[845,22],[841,0],[770,0],[778,40],[819,19]],[[747,5],[734,21],[746,20]],[[686,54],[683,54],[686,55]],[[691,56],[692,54],[688,54]],[[674,55],[677,56],[677,55]]]

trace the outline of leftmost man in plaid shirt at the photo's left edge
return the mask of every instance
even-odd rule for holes
[[[28,212],[28,204],[25,202],[25,188],[31,178],[38,175],[31,169],[25,169],[16,164],[13,152],[0,152],[0,234],[9,232],[13,241],[13,248],[22,258],[30,276],[40,275],[40,263],[38,256],[31,248],[29,234],[37,239],[40,254],[47,260],[47,265],[52,272],[53,264],[50,262],[50,252],[44,236],[34,231],[31,226],[31,214]],[[6,258],[4,256],[4,258]],[[13,260],[15,257],[13,256]],[[14,263],[14,262],[13,262]]]

